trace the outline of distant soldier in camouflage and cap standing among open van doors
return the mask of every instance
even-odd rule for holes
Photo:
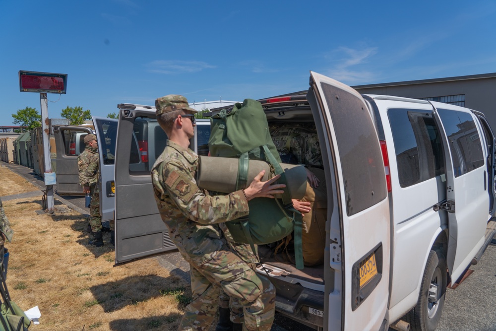
[[[90,244],[97,247],[103,246],[102,218],[100,216],[100,188],[98,186],[98,170],[100,158],[98,156],[98,142],[94,134],[84,136],[86,147],[77,157],[79,168],[79,184],[83,187],[84,193],[91,195],[90,203],[90,226],[94,240]]]

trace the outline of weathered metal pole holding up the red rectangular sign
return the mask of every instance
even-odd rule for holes
[[[47,209],[49,213],[55,211],[54,203],[54,185],[57,184],[55,172],[52,172],[52,157],[50,155],[50,127],[48,119],[48,99],[47,93],[40,93],[41,103],[41,130],[43,135],[43,159],[45,162],[45,185],[47,196]]]

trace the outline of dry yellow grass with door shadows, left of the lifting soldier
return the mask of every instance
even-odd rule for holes
[[[0,171],[3,188],[7,177]],[[7,171],[8,179],[15,177]],[[8,185],[9,194],[18,193]],[[54,215],[35,213],[41,197],[3,203],[15,231],[6,245],[11,298],[24,310],[39,306],[42,314],[29,330],[177,330],[189,284],[155,259],[113,267],[113,248],[88,245],[87,220],[57,202]]]

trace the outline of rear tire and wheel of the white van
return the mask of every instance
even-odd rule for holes
[[[447,286],[446,259],[437,250],[431,250],[422,277],[417,305],[405,315],[412,331],[434,331],[441,319]],[[429,298],[430,290],[435,298]]]

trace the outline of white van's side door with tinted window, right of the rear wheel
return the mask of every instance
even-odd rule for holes
[[[446,262],[454,283],[484,243],[488,221],[488,168],[474,115],[469,110],[432,102],[434,118],[444,131],[448,252]],[[442,107],[442,108],[441,108]],[[484,142],[486,143],[486,142]]]

